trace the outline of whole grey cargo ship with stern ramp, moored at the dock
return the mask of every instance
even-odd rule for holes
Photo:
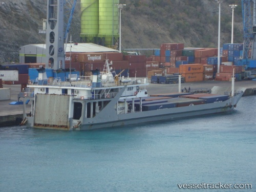
[[[234,78],[233,78],[234,79]],[[70,74],[69,78],[47,78],[44,68],[24,92],[22,125],[55,130],[92,130],[105,127],[184,119],[233,110],[243,95],[234,91],[149,95],[146,78],[113,74],[106,59],[104,70],[91,76]],[[179,84],[180,87],[180,84]],[[28,101],[30,103],[26,104]],[[26,113],[26,108],[31,112]]]

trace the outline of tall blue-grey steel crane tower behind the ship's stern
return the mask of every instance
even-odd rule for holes
[[[48,62],[46,62],[46,68],[65,69],[64,42],[69,34],[75,4],[76,0],[48,0],[47,2],[46,58]],[[65,24],[67,15],[69,18]]]

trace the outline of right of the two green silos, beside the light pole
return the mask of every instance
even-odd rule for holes
[[[119,0],[99,0],[98,36],[104,46],[115,45],[119,38],[119,10],[117,4],[119,4]]]

